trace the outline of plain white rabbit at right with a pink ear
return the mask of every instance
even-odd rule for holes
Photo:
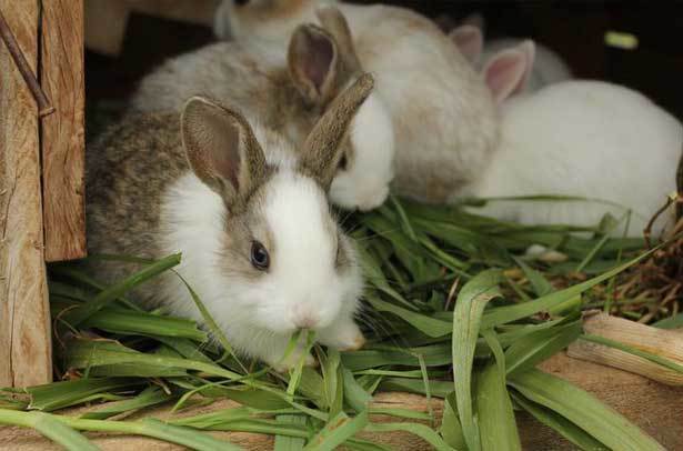
[[[566,81],[511,97],[528,80],[533,50],[533,42],[524,42],[484,67],[483,78],[501,108],[501,141],[490,166],[452,200],[536,194],[601,199],[611,204],[495,201],[483,211],[526,224],[594,225],[605,212],[619,218],[631,209],[629,233],[641,233],[676,189],[681,123],[644,96],[600,81]]]

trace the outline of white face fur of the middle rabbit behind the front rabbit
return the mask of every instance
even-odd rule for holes
[[[384,203],[394,177],[393,126],[383,101],[374,92],[352,122],[351,146],[353,161],[334,177],[330,199],[343,208],[372,210]]]

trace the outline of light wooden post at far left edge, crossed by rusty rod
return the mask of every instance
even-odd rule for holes
[[[36,71],[38,2],[0,10]],[[38,109],[1,42],[0,68],[0,385],[22,387],[52,375]]]

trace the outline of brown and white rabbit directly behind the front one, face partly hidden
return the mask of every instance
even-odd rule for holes
[[[362,73],[341,16],[323,28],[297,27],[289,49],[263,42],[220,42],[173,58],[145,77],[132,99],[138,111],[182,108],[197,93],[238,106],[295,144],[301,144],[332,100]],[[394,140],[389,113],[371,93],[353,119],[330,199],[346,208],[371,210],[389,194]]]

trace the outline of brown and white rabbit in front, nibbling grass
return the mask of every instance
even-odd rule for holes
[[[330,347],[361,347],[354,323],[361,272],[325,193],[372,86],[365,74],[342,92],[300,149],[201,97],[191,98],[182,116],[130,114],[89,152],[90,252],[182,252],[178,271],[232,345],[277,368],[297,361],[282,357],[301,328]],[[132,265],[93,269],[112,281]],[[201,321],[174,275],[135,294]]]

